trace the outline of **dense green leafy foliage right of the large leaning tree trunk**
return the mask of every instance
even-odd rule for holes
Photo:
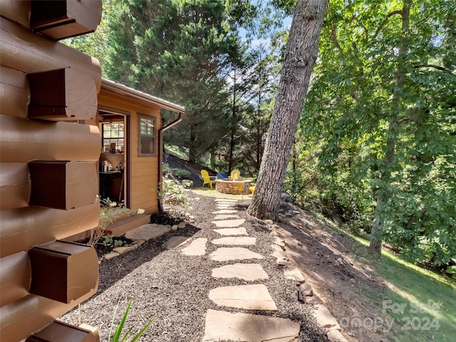
[[[298,136],[323,208],[357,232],[376,220],[373,239],[444,268],[456,255],[450,2],[332,1]]]

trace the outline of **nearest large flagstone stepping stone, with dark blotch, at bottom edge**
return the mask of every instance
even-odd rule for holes
[[[288,318],[209,309],[202,341],[292,342],[297,341],[299,328],[299,323]]]

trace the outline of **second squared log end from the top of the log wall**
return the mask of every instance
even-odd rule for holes
[[[97,114],[97,90],[87,73],[64,68],[29,73],[28,118],[90,120]]]

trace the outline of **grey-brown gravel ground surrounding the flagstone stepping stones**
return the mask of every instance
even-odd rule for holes
[[[192,214],[195,218],[185,229],[170,232],[146,242],[133,252],[120,255],[100,264],[100,285],[97,294],[81,304],[81,321],[96,326],[100,341],[108,341],[108,331],[116,305],[119,303],[115,323],[120,321],[128,301],[133,299],[126,328],[135,325],[133,333],[139,331],[151,318],[154,323],[138,341],[157,342],[199,342],[204,334],[204,316],[208,309],[246,312],[281,318],[291,318],[301,323],[299,341],[327,341],[326,334],[317,326],[311,316],[311,306],[297,301],[296,286],[285,281],[283,266],[276,265],[271,257],[271,243],[274,237],[263,221],[247,215],[248,200],[239,200],[239,217],[247,219],[243,227],[250,237],[257,237],[257,244],[249,247],[253,252],[264,256],[254,262],[263,266],[269,279],[257,282],[240,279],[215,279],[211,271],[215,267],[230,264],[212,261],[209,254],[217,247],[210,243],[221,237],[212,228],[212,212],[216,211],[214,197],[195,195],[188,191]],[[165,244],[173,235],[184,235],[196,239],[206,237],[206,254],[202,257],[186,256],[180,250],[167,250]],[[252,262],[252,261],[236,261]],[[274,299],[278,311],[249,311],[220,307],[209,300],[208,294],[217,286],[241,284],[265,284]],[[59,318],[61,321],[78,324],[78,309]],[[126,331],[125,328],[125,331]]]

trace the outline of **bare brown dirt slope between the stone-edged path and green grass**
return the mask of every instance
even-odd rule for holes
[[[382,294],[382,279],[375,279],[359,266],[356,255],[343,245],[350,243],[346,234],[336,232],[303,209],[294,209],[299,214],[280,220],[280,236],[286,240],[287,252],[306,282],[341,325],[343,335],[348,341],[388,341],[387,327],[379,323],[385,321],[385,315],[362,291]],[[337,261],[339,258],[342,263]],[[373,321],[377,323],[371,327]]]

